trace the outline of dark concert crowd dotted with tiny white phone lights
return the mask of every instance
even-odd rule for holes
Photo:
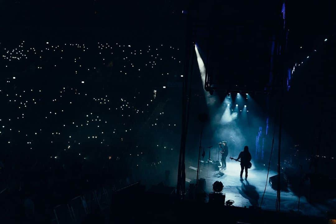
[[[179,94],[166,94],[182,79],[178,47],[14,42],[0,43],[1,212],[30,198],[50,214],[100,186],[164,176],[178,156]]]

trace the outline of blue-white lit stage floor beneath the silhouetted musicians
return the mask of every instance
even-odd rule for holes
[[[252,166],[251,169],[249,169],[247,181],[245,179],[240,181],[239,162],[227,162],[226,166],[226,170],[219,171],[222,174],[220,177],[213,176],[214,172],[209,172],[208,174],[207,170],[203,170],[203,172],[201,172],[200,178],[206,179],[205,191],[207,193],[212,191],[212,184],[218,180],[224,185],[223,193],[226,195],[225,200],[234,200],[234,206],[249,207],[253,205],[261,206],[261,208],[265,210],[275,210],[277,191],[271,188],[268,181],[264,199],[262,205],[260,205],[266,183],[267,166],[265,166],[265,169],[256,169]],[[216,173],[218,173],[218,171]],[[276,174],[277,173],[275,171],[270,170],[268,177]],[[243,178],[244,177],[245,172],[243,173]],[[323,204],[312,205],[307,202],[307,199],[304,196],[300,197],[299,213],[303,215],[326,217],[327,211],[335,211],[335,209],[336,199],[329,199]],[[298,211],[298,196],[291,191],[290,187],[288,191],[281,191],[281,211]]]

